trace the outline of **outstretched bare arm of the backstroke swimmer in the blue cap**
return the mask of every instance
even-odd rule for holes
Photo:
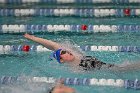
[[[33,35],[25,34],[24,37],[29,39],[29,40],[32,40],[34,42],[40,43],[40,44],[44,45],[45,47],[47,47],[50,50],[57,50],[57,49],[59,49],[61,47],[56,42],[53,42],[51,40],[46,40],[46,39],[43,39],[43,38],[39,38],[39,37],[35,37]]]

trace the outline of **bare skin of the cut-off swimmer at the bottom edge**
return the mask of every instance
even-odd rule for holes
[[[59,85],[53,89],[52,93],[75,93],[75,91],[73,88],[64,85]]]

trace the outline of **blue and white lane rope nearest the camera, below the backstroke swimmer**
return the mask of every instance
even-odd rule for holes
[[[54,78],[54,77],[0,77],[0,85],[23,83],[46,83],[54,84],[57,81],[63,81],[65,85],[76,86],[112,86],[124,87],[126,89],[140,89],[140,80],[122,80],[122,79],[96,79],[96,78]]]

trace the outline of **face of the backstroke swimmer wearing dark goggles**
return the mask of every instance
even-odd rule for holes
[[[60,53],[60,61],[63,62],[72,62],[74,60],[74,56],[67,50],[61,50]]]

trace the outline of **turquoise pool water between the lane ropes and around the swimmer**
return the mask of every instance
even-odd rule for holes
[[[26,18],[26,20],[25,20]],[[68,20],[69,19],[69,20]],[[125,25],[138,24],[139,18],[80,18],[80,17],[1,17],[0,24],[97,24],[97,25]],[[137,33],[92,33],[82,34],[75,32],[60,32],[60,33],[39,33],[36,36],[51,39],[54,41],[71,41],[79,46],[96,45],[96,46],[140,46],[139,32]],[[1,34],[0,45],[37,45],[34,42],[28,41],[23,37],[23,34]],[[51,52],[31,52],[31,53],[11,53],[0,55],[0,76],[22,76],[22,77],[78,77],[78,78],[105,78],[105,79],[139,79],[138,71],[126,72],[111,72],[111,71],[91,71],[91,72],[76,72],[64,65],[56,64],[55,60],[49,60]],[[139,62],[139,52],[109,52],[109,51],[86,51],[86,55],[97,57],[106,63],[122,64],[124,62]],[[18,83],[13,85],[0,85],[0,93],[45,93],[45,84]],[[78,93],[132,93],[137,90],[127,90],[118,87],[105,86],[72,86]]]

